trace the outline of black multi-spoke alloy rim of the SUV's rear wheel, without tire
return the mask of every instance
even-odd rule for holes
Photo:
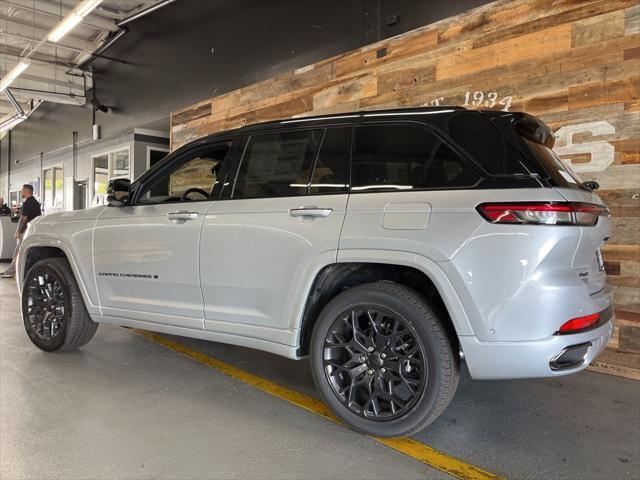
[[[325,336],[323,358],[334,394],[369,420],[403,416],[427,383],[424,345],[411,325],[381,307],[339,315]]]

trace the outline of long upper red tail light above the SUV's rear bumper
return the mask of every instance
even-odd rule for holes
[[[476,209],[491,223],[532,225],[591,227],[600,216],[611,215],[607,207],[582,202],[483,203]]]

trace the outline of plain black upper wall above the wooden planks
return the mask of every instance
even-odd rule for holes
[[[483,0],[177,0],[128,24],[91,66],[103,135],[168,126],[185,105],[489,3]],[[13,132],[14,158],[90,135],[91,111],[47,104]],[[13,155],[12,155],[13,156]]]

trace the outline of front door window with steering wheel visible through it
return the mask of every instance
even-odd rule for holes
[[[138,197],[138,203],[210,200],[230,147],[230,142],[225,142],[185,155],[174,168],[152,180]]]

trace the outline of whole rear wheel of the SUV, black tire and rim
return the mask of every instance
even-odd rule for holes
[[[460,357],[436,312],[415,290],[389,282],[351,288],[327,304],[311,339],[311,371],[343,422],[397,437],[422,430],[445,410]]]

